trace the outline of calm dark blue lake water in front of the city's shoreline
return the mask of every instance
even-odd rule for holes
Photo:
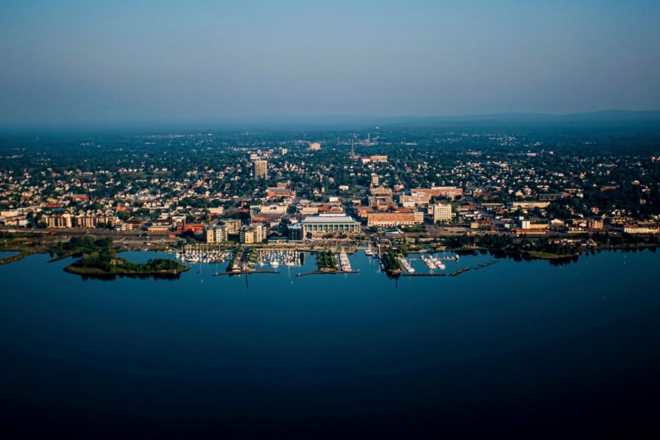
[[[398,282],[362,252],[360,274],[296,277],[308,256],[247,282],[47,260],[0,266],[0,431],[19,438],[593,436],[660,407],[660,253]]]

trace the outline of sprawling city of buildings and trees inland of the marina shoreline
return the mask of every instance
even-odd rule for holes
[[[153,135],[129,150],[81,144],[82,162],[69,159],[78,157],[72,153],[10,148],[2,152],[0,225],[188,235],[209,243],[437,224],[518,233],[657,231],[655,157],[560,156],[512,135],[478,139],[523,153],[445,154],[408,141],[390,146],[383,135],[279,146]]]

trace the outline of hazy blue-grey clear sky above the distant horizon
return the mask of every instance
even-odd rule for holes
[[[658,1],[2,1],[0,124],[660,109]]]

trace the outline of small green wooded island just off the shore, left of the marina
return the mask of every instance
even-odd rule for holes
[[[91,235],[73,237],[56,252],[58,258],[80,256],[78,261],[65,267],[65,272],[96,278],[115,276],[177,278],[181,272],[190,270],[190,267],[170,259],[149,259],[146,263],[132,263],[115,255],[111,238],[96,240]]]

